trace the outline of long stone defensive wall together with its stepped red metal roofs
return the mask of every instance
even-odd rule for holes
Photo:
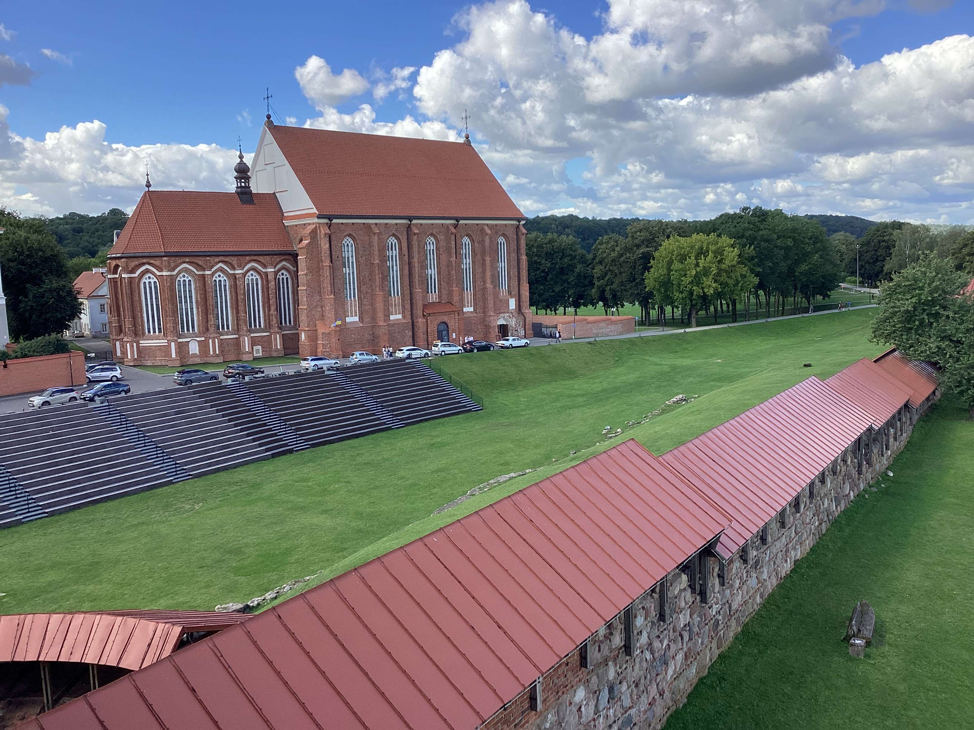
[[[23,727],[655,730],[939,394],[891,350],[623,441]]]

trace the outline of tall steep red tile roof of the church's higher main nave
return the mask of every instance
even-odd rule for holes
[[[268,131],[319,214],[524,218],[472,145],[302,127]]]

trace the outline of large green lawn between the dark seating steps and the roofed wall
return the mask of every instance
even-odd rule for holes
[[[211,608],[332,575],[606,448],[615,441],[598,445],[605,425],[641,420],[678,393],[699,397],[625,435],[658,454],[810,375],[875,355],[874,311],[441,358],[484,398],[483,412],[0,530],[0,612]],[[493,477],[539,467],[430,517]]]

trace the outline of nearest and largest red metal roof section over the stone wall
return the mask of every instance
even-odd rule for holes
[[[475,728],[729,523],[626,441],[23,727]]]

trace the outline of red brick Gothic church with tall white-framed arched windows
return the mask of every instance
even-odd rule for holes
[[[147,178],[108,254],[117,359],[337,357],[530,332],[524,214],[468,138],[268,120],[234,171],[234,193]]]

